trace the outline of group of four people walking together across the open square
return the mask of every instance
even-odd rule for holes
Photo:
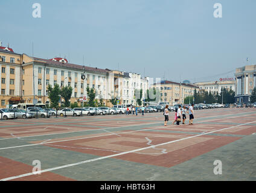
[[[188,110],[187,107],[181,107],[179,106],[178,109],[175,109],[175,117],[174,117],[174,121],[173,121],[173,125],[176,122],[177,125],[180,124],[181,122],[181,118],[182,118],[182,124],[185,124],[185,121],[187,119],[186,117],[186,113],[188,113],[190,115],[190,121],[189,121],[189,125],[193,125],[193,119],[194,119],[194,104],[192,104]],[[167,126],[167,122],[169,121],[169,110],[168,110],[168,105],[165,106],[164,109],[164,126]]]

